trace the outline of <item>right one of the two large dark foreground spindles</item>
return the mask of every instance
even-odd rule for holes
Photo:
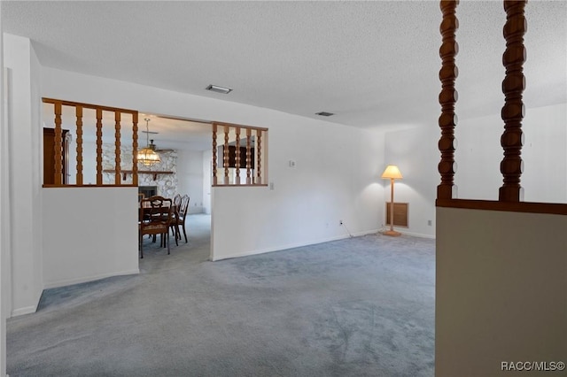
[[[504,184],[499,191],[501,202],[519,202],[524,199],[524,189],[520,186],[524,162],[520,156],[522,145],[524,145],[522,93],[525,88],[524,34],[527,31],[527,21],[524,17],[525,3],[522,0],[504,1],[506,24],[503,31],[506,51],[502,56],[502,64],[506,67],[506,77],[502,81],[505,104],[502,107],[501,116],[505,125],[501,136],[501,146],[504,149],[504,158],[500,164],[500,171],[504,177]]]

